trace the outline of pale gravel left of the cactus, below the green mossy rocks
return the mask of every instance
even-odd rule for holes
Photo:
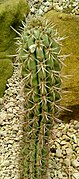
[[[14,63],[13,76],[0,98],[0,178],[19,179],[19,151],[22,131],[23,93],[20,68]]]

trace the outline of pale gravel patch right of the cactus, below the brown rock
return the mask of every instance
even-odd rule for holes
[[[79,179],[79,122],[56,124],[52,139],[51,178]]]

